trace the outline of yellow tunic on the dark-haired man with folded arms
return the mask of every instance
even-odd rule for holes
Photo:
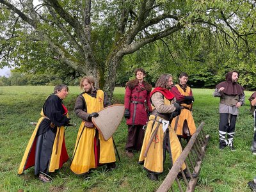
[[[184,90],[182,90],[182,88],[180,88],[179,84],[176,84],[175,86],[177,87],[177,89],[179,90],[181,95],[189,96],[189,93],[191,91],[191,88],[189,86],[187,86],[186,92],[184,92]],[[192,112],[189,110],[189,109],[191,109],[192,105],[185,104],[185,103],[182,103],[180,105],[184,106],[185,108],[183,108],[181,110],[179,117],[173,118],[171,127],[173,130],[176,129],[177,136],[183,136],[184,135],[184,122],[186,121],[188,123],[189,135],[192,136],[196,132],[196,125],[194,122],[194,118],[193,118]],[[189,109],[186,109],[186,108],[189,108]],[[177,120],[178,120],[178,122],[176,123]],[[175,124],[177,125],[176,128],[175,128]]]

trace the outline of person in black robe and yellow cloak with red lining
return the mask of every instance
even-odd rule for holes
[[[45,100],[41,118],[29,140],[20,163],[18,174],[35,166],[35,175],[43,182],[51,181],[49,173],[55,172],[68,161],[64,131],[68,125],[68,110],[62,100],[68,95],[68,86],[58,84]]]

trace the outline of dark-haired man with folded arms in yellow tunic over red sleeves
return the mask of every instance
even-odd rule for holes
[[[187,82],[188,74],[182,72],[179,75],[179,83],[172,86],[171,89],[171,92],[175,95],[177,100],[176,102],[178,102],[181,107],[180,115],[173,118],[171,125],[179,137],[179,140],[181,138],[189,140],[196,131],[196,125],[191,112],[194,97]]]

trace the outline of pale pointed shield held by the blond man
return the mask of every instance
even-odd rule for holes
[[[124,105],[115,104],[99,111],[99,116],[92,118],[92,122],[99,129],[105,141],[109,140],[116,131],[124,116]]]

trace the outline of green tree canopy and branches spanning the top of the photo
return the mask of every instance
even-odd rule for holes
[[[255,1],[39,2],[0,0],[1,66],[93,76],[110,97],[116,72],[138,63],[152,81],[180,70],[204,81],[249,63],[243,72],[255,72]]]

